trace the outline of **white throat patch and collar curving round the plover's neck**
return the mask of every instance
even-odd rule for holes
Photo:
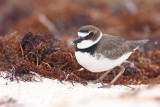
[[[102,33],[100,32],[100,36],[96,41],[92,41],[92,40],[83,40],[82,42],[77,44],[77,47],[79,49],[85,49],[85,48],[89,48],[92,45],[96,44],[97,42],[100,41],[100,39],[102,38]]]

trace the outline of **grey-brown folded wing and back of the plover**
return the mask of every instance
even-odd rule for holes
[[[145,44],[148,40],[125,40],[118,36],[103,35],[97,47],[97,53],[101,53],[107,58],[117,59],[123,54],[134,52],[139,46]]]

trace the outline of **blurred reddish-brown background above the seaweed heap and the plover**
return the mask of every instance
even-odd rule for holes
[[[160,49],[160,0],[0,0],[1,36],[43,32],[70,43],[88,24]]]

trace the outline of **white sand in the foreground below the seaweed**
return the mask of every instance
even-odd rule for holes
[[[136,90],[123,85],[98,88],[101,84],[59,82],[43,78],[42,82],[9,81],[0,78],[0,99],[11,97],[20,107],[158,107],[160,85],[132,85]],[[140,91],[137,91],[140,90]],[[6,105],[3,105],[6,107]],[[12,107],[12,106],[11,106]]]

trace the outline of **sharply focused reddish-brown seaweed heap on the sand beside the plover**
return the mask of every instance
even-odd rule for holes
[[[35,78],[38,78],[40,81],[43,76],[85,85],[86,81],[95,80],[102,75],[87,70],[78,71],[81,66],[77,63],[74,52],[65,48],[53,35],[28,32],[21,37],[13,33],[2,39],[1,70],[8,70],[8,78],[11,80],[37,81]],[[158,50],[146,53],[136,51],[129,61],[124,63],[126,71],[115,84],[159,83],[159,58]],[[104,82],[111,81],[118,72],[117,67],[108,74]]]

